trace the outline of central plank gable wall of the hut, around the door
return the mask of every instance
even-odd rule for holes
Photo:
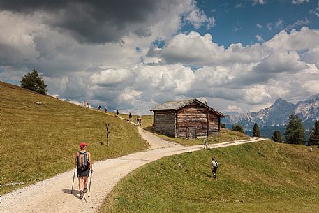
[[[207,135],[207,108],[196,102],[177,111],[177,135],[186,138],[186,128],[197,128],[198,136]]]

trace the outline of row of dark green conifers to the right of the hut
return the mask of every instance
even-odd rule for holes
[[[233,131],[244,133],[244,129],[239,124],[232,125]],[[260,128],[257,123],[253,125],[253,137],[260,137]],[[292,114],[289,117],[289,124],[285,128],[285,137],[280,131],[274,131],[272,135],[274,142],[287,142],[290,144],[304,144],[319,145],[319,120],[316,120],[313,124],[313,128],[310,131],[310,137],[306,140],[304,126],[302,126],[302,119],[297,115]]]

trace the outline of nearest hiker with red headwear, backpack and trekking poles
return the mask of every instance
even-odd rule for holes
[[[80,151],[77,152],[75,157],[75,164],[77,165],[77,177],[79,179],[80,199],[83,198],[84,193],[87,193],[87,177],[92,170],[91,154],[87,149],[87,143],[81,142]]]

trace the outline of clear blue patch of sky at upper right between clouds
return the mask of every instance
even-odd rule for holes
[[[253,1],[197,1],[197,6],[207,18],[214,17],[216,26],[207,29],[207,22],[198,29],[189,22],[182,24],[179,32],[197,31],[201,35],[212,34],[213,41],[228,47],[232,43],[251,45],[260,43],[260,38],[268,41],[282,30],[299,30],[303,26],[319,28],[316,15],[318,1],[294,4],[292,1],[265,1],[254,4]],[[319,13],[319,12],[318,12]]]

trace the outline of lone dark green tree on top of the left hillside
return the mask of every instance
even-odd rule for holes
[[[38,71],[34,69],[27,75],[23,75],[22,80],[20,81],[21,87],[25,89],[29,89],[32,91],[36,91],[40,94],[45,95],[47,93],[47,85],[45,85],[45,81],[38,74]]]

